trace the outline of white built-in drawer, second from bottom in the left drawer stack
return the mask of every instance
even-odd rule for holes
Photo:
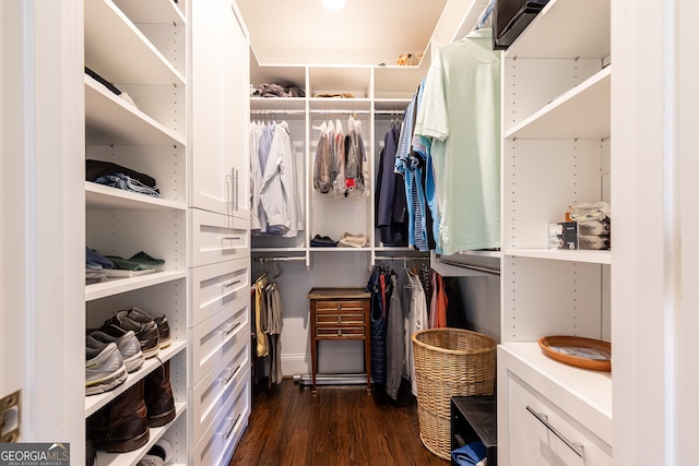
[[[247,330],[249,335],[249,328]],[[232,358],[222,359],[190,391],[189,411],[192,417],[190,444],[201,440],[218,411],[235,397],[238,385],[249,383],[250,346],[240,342]]]

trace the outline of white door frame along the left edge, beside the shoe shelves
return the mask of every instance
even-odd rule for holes
[[[40,4],[39,4],[40,3]],[[84,463],[83,3],[1,2],[0,389]]]

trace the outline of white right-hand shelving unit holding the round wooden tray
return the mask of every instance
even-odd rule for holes
[[[503,55],[502,465],[579,452],[588,465],[613,462],[612,375],[554,361],[537,345],[546,335],[611,340],[612,251],[549,250],[546,232],[572,204],[612,201],[609,15],[609,0],[552,0]],[[526,407],[583,447],[547,434]]]

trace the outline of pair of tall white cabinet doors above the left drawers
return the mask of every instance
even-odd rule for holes
[[[192,3],[190,206],[248,211],[248,40],[229,0]]]

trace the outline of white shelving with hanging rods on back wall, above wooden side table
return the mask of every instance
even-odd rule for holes
[[[374,189],[378,158],[383,133],[391,119],[402,119],[402,112],[420,80],[427,74],[429,58],[415,67],[315,67],[315,65],[261,65],[251,55],[250,70],[253,85],[262,83],[294,84],[303,88],[306,97],[250,98],[252,119],[284,119],[289,122],[292,138],[297,150],[297,172],[303,183],[299,192],[306,218],[305,231],[297,239],[252,237],[252,252],[259,255],[301,254],[308,267],[316,254],[368,253],[368,265],[378,255],[415,254],[408,248],[386,248],[380,243],[374,227]],[[316,97],[317,94],[352,94],[354,98]],[[391,115],[393,113],[393,115]],[[347,117],[362,122],[362,134],[370,165],[371,194],[356,201],[320,194],[312,188],[312,170],[317,127],[329,119],[340,119],[346,131]],[[303,174],[303,175],[301,175]],[[347,232],[364,234],[369,239],[367,248],[311,248],[315,235],[330,236],[337,240]],[[425,254],[423,254],[425,255]]]

